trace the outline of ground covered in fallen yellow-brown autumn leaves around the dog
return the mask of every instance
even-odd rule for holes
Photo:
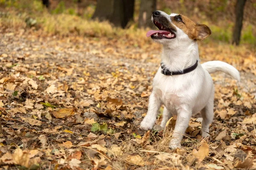
[[[201,62],[222,60],[241,73],[215,82],[211,137],[200,114],[182,148],[169,150],[170,120],[154,130],[147,112],[161,46],[126,36],[57,37],[0,29],[0,169],[256,169],[256,56],[246,47],[199,43]]]

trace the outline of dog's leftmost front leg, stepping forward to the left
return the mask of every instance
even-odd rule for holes
[[[140,123],[141,129],[152,129],[154,127],[154,123],[157,119],[157,113],[161,105],[161,100],[157,96],[157,94],[152,91],[151,95],[149,96],[148,102],[148,113],[144,117],[143,121]]]

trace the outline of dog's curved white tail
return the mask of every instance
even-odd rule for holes
[[[202,67],[211,73],[215,73],[217,71],[222,71],[230,76],[232,76],[234,79],[237,79],[240,81],[240,74],[239,71],[236,70],[232,65],[227,64],[226,62],[222,61],[209,61],[202,64]]]

